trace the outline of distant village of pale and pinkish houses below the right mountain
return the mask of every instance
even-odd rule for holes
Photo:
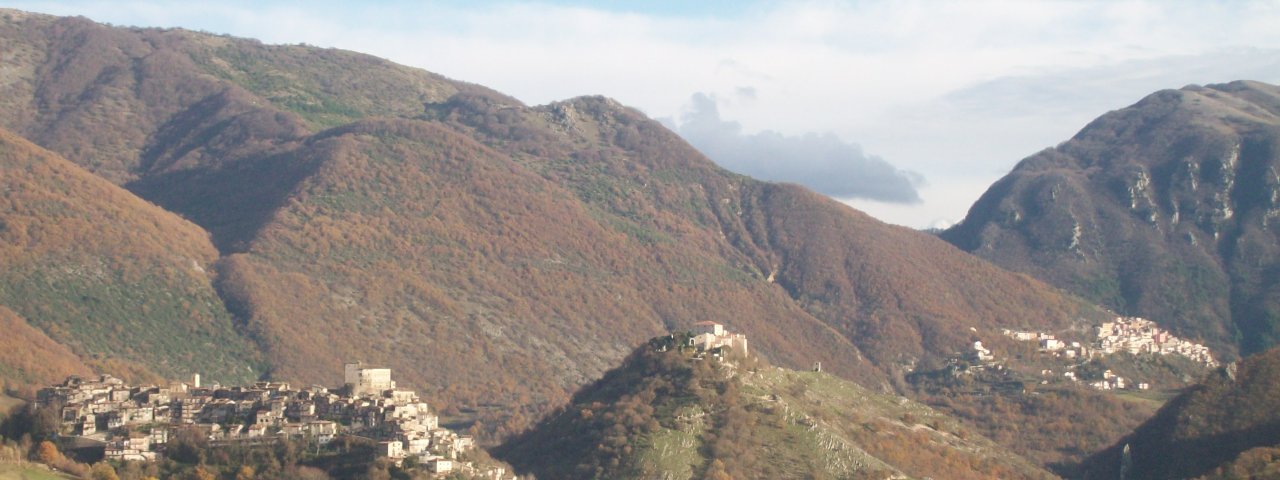
[[[1094,339],[1088,344],[1062,340],[1044,332],[1004,329],[1002,333],[1005,337],[1015,340],[1038,342],[1041,352],[1068,360],[1088,360],[1114,353],[1178,355],[1203,364],[1207,367],[1216,367],[1219,365],[1213,360],[1213,355],[1208,347],[1174,337],[1167,330],[1157,326],[1156,323],[1135,316],[1117,316],[1112,321],[1096,325],[1093,328]],[[982,342],[974,342],[970,356],[979,362],[995,360],[991,351],[983,347]],[[1053,371],[1043,370],[1041,374],[1051,376]],[[1061,378],[1070,381],[1084,381],[1071,369],[1062,371]],[[1147,381],[1129,381],[1123,376],[1115,375],[1111,370],[1103,371],[1101,379],[1091,379],[1088,385],[1100,390],[1146,390],[1151,388],[1151,384]]]

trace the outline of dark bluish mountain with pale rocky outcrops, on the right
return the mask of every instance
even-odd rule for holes
[[[1230,358],[1280,339],[1280,88],[1153,93],[996,182],[942,238]]]

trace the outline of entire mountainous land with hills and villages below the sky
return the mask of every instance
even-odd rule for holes
[[[604,96],[525,105],[360,52],[14,9],[0,51],[15,458],[49,442],[42,463],[128,479],[1275,463],[1275,86],[1152,93],[933,234],[726,170]]]

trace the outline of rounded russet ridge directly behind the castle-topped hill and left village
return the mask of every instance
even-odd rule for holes
[[[321,380],[362,356],[430,365],[404,375],[466,404],[541,402],[637,338],[712,319],[758,332],[790,364],[820,355],[876,378],[785,292],[675,238],[620,232],[563,187],[438,124],[362,122],[305,148],[323,165],[223,265],[224,292],[274,346],[276,375]]]

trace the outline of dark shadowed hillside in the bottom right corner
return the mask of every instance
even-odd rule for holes
[[[1085,465],[1091,479],[1121,468],[1128,479],[1260,477],[1274,470],[1276,448],[1280,348],[1224,367]]]

